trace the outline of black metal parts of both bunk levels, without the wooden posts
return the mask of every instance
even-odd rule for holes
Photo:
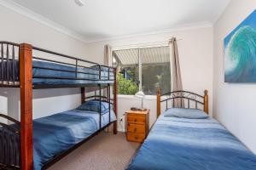
[[[20,61],[20,44],[14,43],[14,42],[3,42],[0,41],[0,88],[20,88],[20,75],[17,77],[15,75],[15,72],[17,73],[17,70],[15,70],[15,64]],[[82,140],[79,142],[79,144],[74,144],[72,147],[70,147],[68,150],[65,150],[64,152],[58,154],[57,156],[53,157],[51,160],[47,161],[43,169],[46,169],[53,165],[56,161],[61,160],[62,157],[67,156],[68,153],[70,153],[72,150],[75,150],[78,148],[81,144],[84,144],[86,141],[91,139],[92,137],[96,136],[96,134],[102,132],[106,127],[108,127],[111,123],[111,105],[114,105],[114,102],[116,102],[115,99],[110,99],[110,86],[116,83],[116,70],[113,67],[106,66],[106,65],[99,65],[95,62],[91,62],[85,59],[78,59],[66,54],[60,54],[53,51],[49,51],[43,48],[37,48],[32,47],[32,50],[43,52],[45,54],[52,54],[59,57],[62,57],[64,59],[71,59],[75,64],[68,63],[68,62],[62,62],[58,60],[53,59],[44,59],[32,56],[32,60],[41,60],[45,62],[55,63],[59,65],[71,65],[75,67],[75,71],[67,71],[62,69],[56,69],[56,68],[45,68],[43,66],[33,66],[32,69],[41,69],[41,70],[50,70],[50,71],[63,71],[63,72],[71,72],[74,73],[74,77],[57,77],[57,76],[51,76],[51,77],[42,77],[42,76],[33,76],[32,78],[47,78],[47,79],[64,79],[64,80],[84,80],[84,81],[91,81],[90,83],[79,83],[79,84],[33,84],[33,89],[39,89],[39,88],[84,88],[84,87],[98,87],[97,91],[99,92],[98,95],[93,95],[90,97],[84,98],[86,99],[99,99],[100,101],[100,111],[99,111],[99,129],[91,134],[88,138]],[[86,65],[92,65],[90,67],[80,65],[79,62],[84,63]],[[6,67],[4,67],[6,65]],[[83,72],[79,71],[79,68],[86,68],[89,70],[94,70],[96,73],[89,73],[89,72]],[[102,76],[102,69],[108,69],[108,76]],[[20,70],[18,70],[20,71]],[[98,71],[98,72],[97,72]],[[86,74],[86,75],[93,75],[97,76],[98,78],[81,78],[78,77],[79,74]],[[113,74],[113,76],[111,76]],[[100,81],[100,82],[98,82]],[[101,82],[102,81],[102,82]],[[109,96],[102,96],[102,88],[108,89]],[[109,110],[109,120],[108,124],[104,127],[102,127],[102,101],[108,102],[108,110]],[[116,104],[115,104],[116,105]],[[20,122],[16,121],[15,119],[5,116],[3,114],[0,114],[0,118],[6,119],[9,122],[14,122],[13,124],[9,125],[8,123],[0,122],[0,170],[2,169],[20,169]],[[116,122],[116,121],[114,121]],[[9,135],[6,136],[5,131],[9,132]],[[6,138],[7,137],[7,138]],[[19,140],[19,144],[15,145],[15,139]],[[13,146],[15,147],[13,148]],[[6,148],[3,148],[3,146],[8,146],[9,150],[6,150]],[[15,159],[15,162],[11,162],[11,157],[17,157]]]

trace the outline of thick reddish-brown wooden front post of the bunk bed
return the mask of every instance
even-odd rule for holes
[[[33,168],[32,46],[20,44],[20,167]]]

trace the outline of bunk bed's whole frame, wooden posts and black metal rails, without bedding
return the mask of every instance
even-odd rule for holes
[[[0,45],[2,46],[1,55],[0,55],[2,64],[3,64],[4,59],[7,62],[9,62],[9,60],[14,61],[15,60],[15,48],[19,48],[20,83],[19,84],[15,83],[15,80],[13,80],[13,82],[9,81],[9,77],[11,77],[12,75],[9,75],[7,83],[3,83],[3,81],[1,82],[1,80],[0,80],[0,87],[20,88],[20,122],[15,121],[14,119],[12,119],[9,116],[3,116],[0,114],[0,117],[3,117],[3,118],[5,117],[6,119],[8,119],[10,121],[20,124],[20,132],[18,132],[18,131],[16,132],[17,135],[20,135],[20,167],[17,166],[17,167],[11,167],[11,168],[15,168],[15,169],[21,168],[22,170],[32,170],[33,169],[33,140],[32,140],[32,93],[33,93],[33,89],[37,89],[37,88],[81,88],[81,102],[84,102],[86,99],[84,87],[98,86],[99,87],[98,89],[104,89],[104,88],[108,89],[108,98],[107,99],[110,103],[110,86],[113,86],[113,111],[115,112],[115,115],[117,116],[117,92],[118,92],[117,87],[118,86],[117,86],[117,81],[116,81],[116,69],[115,68],[108,67],[105,65],[99,65],[97,63],[94,63],[94,62],[91,62],[88,60],[74,58],[74,57],[71,57],[71,56],[68,56],[65,54],[58,54],[58,53],[55,53],[55,52],[52,52],[49,50],[45,50],[43,48],[36,48],[27,43],[17,44],[17,43],[13,43],[13,42],[0,42]],[[7,45],[7,51],[6,51],[7,58],[4,58],[4,59],[3,59],[3,45]],[[44,52],[46,54],[58,55],[58,56],[61,56],[61,57],[67,58],[67,59],[75,59],[76,71],[77,71],[77,67],[79,66],[78,61],[99,66],[100,79],[101,79],[101,71],[102,71],[101,66],[108,68],[108,79],[109,79],[109,71],[110,71],[110,69],[113,69],[113,75],[114,75],[113,83],[111,83],[111,84],[109,84],[109,83],[71,84],[71,85],[62,84],[62,85],[34,86],[32,84],[32,78],[33,78],[32,77],[32,59],[40,59],[40,58],[36,58],[36,57],[32,56],[33,50]],[[52,60],[48,60],[48,61],[52,61]],[[7,65],[8,65],[7,66],[7,70],[8,70],[9,63],[7,63]],[[13,66],[14,66],[14,64],[13,64]],[[3,67],[2,67],[2,69],[3,69]],[[13,67],[13,69],[14,69],[14,67]],[[2,70],[2,74],[3,74],[3,70]],[[9,73],[7,73],[7,74],[9,74]],[[77,72],[76,72],[76,74],[77,74]],[[1,77],[1,75],[0,75],[0,77]],[[99,99],[101,99],[100,101],[102,101],[102,94],[101,94],[102,90],[99,90],[99,91],[100,91]],[[101,120],[101,118],[100,118],[100,120]],[[0,125],[2,125],[2,124],[0,124]],[[110,125],[110,123],[108,125]],[[108,125],[106,127],[108,127]],[[55,156],[52,160],[47,162],[43,168],[47,168],[47,167],[51,166],[52,164],[54,164],[56,161],[59,161],[62,157],[66,156],[69,152],[71,152],[72,150],[75,150],[77,147],[79,147],[79,145],[84,144],[84,142],[88,141],[90,138],[95,136],[97,133],[100,133],[104,128],[105,127],[100,128],[96,133],[93,133],[88,139],[84,139],[79,144],[75,144],[69,150],[61,153],[58,156]],[[117,133],[117,122],[116,121],[113,122],[113,133],[114,134]],[[1,169],[1,164],[0,164],[0,169]]]

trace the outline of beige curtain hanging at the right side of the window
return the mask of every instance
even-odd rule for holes
[[[170,65],[171,65],[171,91],[183,90],[181,71],[177,52],[176,37],[172,37],[169,42],[170,47]],[[183,99],[174,99],[172,107],[183,107]]]

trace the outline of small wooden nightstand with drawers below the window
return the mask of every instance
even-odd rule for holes
[[[143,142],[148,135],[149,110],[126,111],[126,138],[133,142]]]

